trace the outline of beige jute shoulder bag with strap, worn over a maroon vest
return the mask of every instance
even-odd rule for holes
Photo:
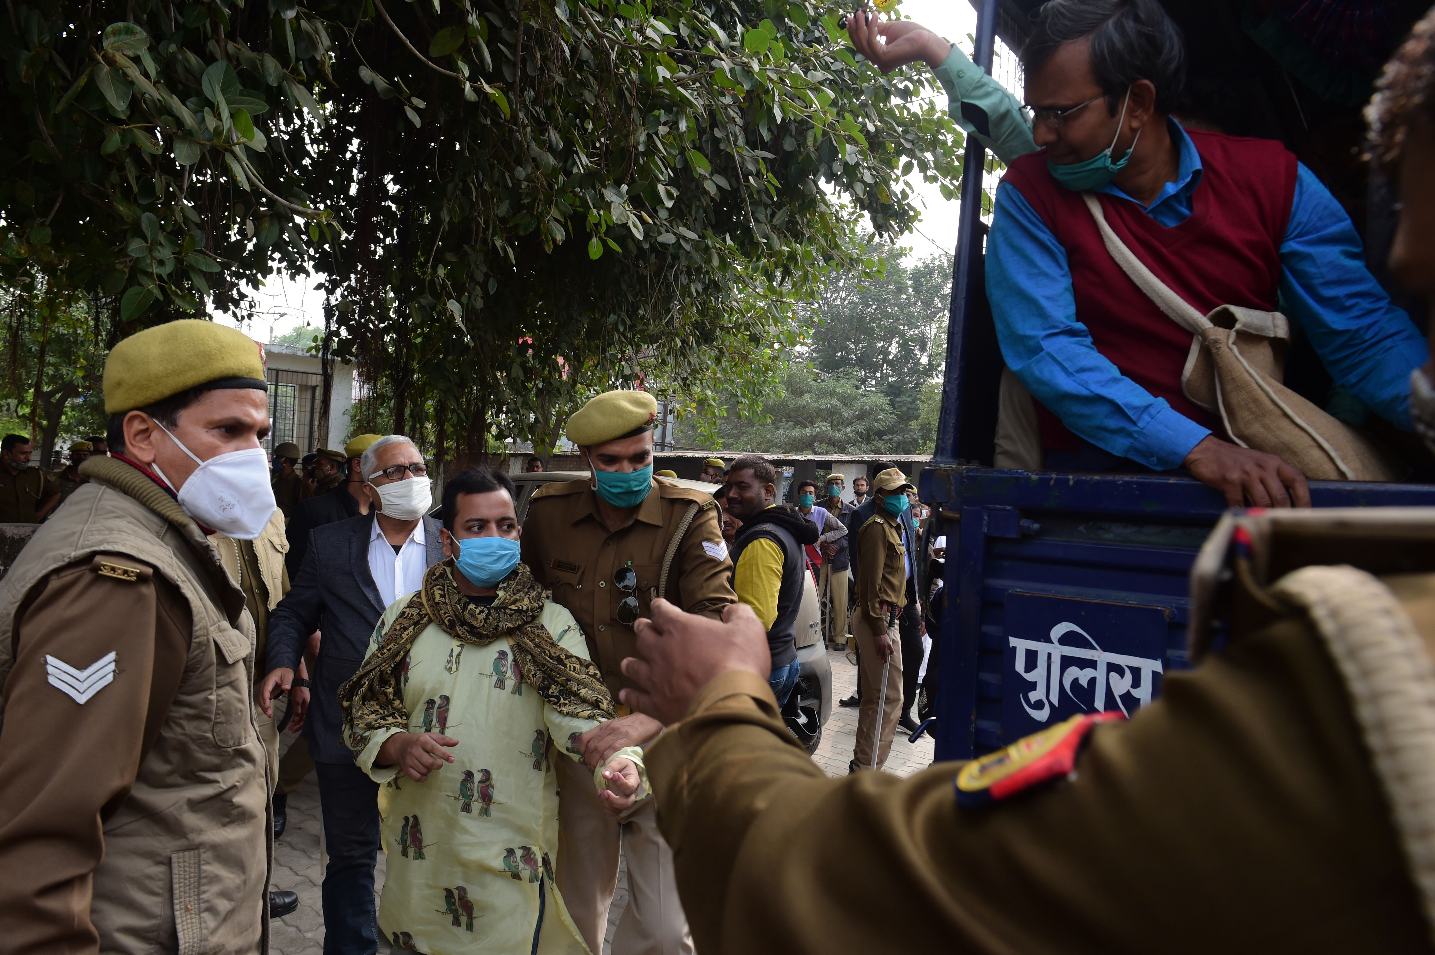
[[[1203,315],[1152,274],[1116,237],[1091,192],[1082,199],[1106,251],[1131,281],[1172,321],[1191,333],[1181,391],[1220,414],[1241,447],[1277,455],[1312,480],[1395,480],[1395,469],[1358,430],[1287,389],[1290,321],[1279,311],[1220,305]]]

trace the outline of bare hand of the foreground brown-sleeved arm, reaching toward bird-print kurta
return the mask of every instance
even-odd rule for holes
[[[687,716],[715,677],[748,670],[766,680],[772,673],[768,634],[746,604],[730,604],[719,622],[654,599],[653,618],[639,618],[633,631],[637,655],[623,661],[623,675],[636,688],[618,698],[664,726]]]

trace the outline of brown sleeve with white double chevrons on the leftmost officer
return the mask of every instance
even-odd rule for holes
[[[189,655],[178,589],[133,558],[102,559],[136,579],[86,559],[46,578],[16,615],[0,727],[0,948],[10,952],[99,949],[89,906],[100,826],[129,794]],[[53,685],[65,683],[60,664],[85,671],[112,652],[113,680],[83,704]]]

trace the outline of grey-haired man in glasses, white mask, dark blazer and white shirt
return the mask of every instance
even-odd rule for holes
[[[379,786],[353,761],[342,737],[339,687],[354,675],[383,609],[423,582],[443,559],[428,467],[402,434],[376,440],[360,459],[367,515],[309,532],[309,551],[288,595],[270,614],[265,713],[294,683],[309,634],[324,637],[314,667],[304,737],[319,776],[329,868],[324,870],[324,952],[372,955],[379,936],[373,866],[379,853]]]

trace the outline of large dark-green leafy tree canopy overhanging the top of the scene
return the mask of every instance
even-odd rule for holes
[[[593,391],[739,407],[961,136],[924,73],[775,0],[13,6],[0,267],[123,330],[317,271],[395,430],[550,445]],[[376,404],[379,407],[379,404]]]

